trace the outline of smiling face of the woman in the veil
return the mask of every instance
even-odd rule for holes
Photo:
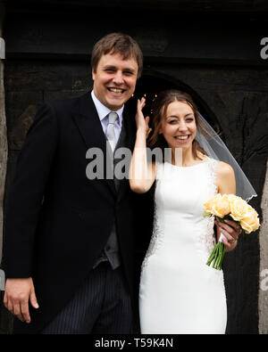
[[[168,105],[159,133],[172,149],[187,150],[191,147],[197,135],[197,125],[194,111],[187,102],[171,102]]]

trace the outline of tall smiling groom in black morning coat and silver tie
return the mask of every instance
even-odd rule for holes
[[[124,103],[142,53],[113,33],[96,43],[91,66],[93,91],[44,103],[18,160],[3,262],[16,333],[130,333],[136,195],[127,179],[88,179],[86,153],[97,147],[106,160],[106,143],[133,149]]]

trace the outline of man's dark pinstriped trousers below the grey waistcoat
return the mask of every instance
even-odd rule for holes
[[[41,333],[125,334],[130,333],[131,323],[130,293],[121,266],[113,270],[103,262]]]

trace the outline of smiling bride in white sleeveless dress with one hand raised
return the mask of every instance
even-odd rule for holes
[[[149,118],[138,100],[137,136],[130,164],[130,188],[147,192],[155,183],[154,231],[139,286],[141,333],[224,333],[227,322],[222,271],[206,266],[215,244],[214,218],[204,203],[215,193],[236,193],[229,164],[210,158],[197,143],[202,128],[197,107],[183,92],[158,94],[153,109],[151,149],[170,148],[170,160],[147,160]],[[178,157],[179,155],[179,157]],[[163,161],[163,162],[162,162]],[[233,250],[240,227],[217,223]]]

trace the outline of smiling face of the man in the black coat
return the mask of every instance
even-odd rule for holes
[[[120,53],[107,53],[100,58],[96,72],[92,70],[92,78],[96,98],[117,111],[135,91],[138,63],[134,58],[123,60]]]

